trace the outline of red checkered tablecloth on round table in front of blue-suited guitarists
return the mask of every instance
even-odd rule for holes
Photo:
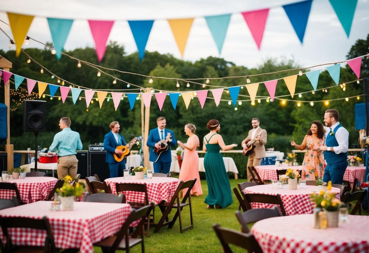
[[[156,203],[160,203],[162,201],[170,201],[178,187],[179,179],[175,177],[153,177],[152,179],[124,179],[123,177],[112,177],[106,179],[105,182],[110,184],[113,194],[117,193],[115,188],[116,183],[146,183],[149,202],[155,201]],[[125,194],[127,202],[144,202],[144,193],[135,191],[124,191],[123,193]]]

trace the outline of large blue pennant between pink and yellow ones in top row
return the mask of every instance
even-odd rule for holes
[[[128,24],[137,45],[139,60],[142,61],[154,20],[128,21]]]

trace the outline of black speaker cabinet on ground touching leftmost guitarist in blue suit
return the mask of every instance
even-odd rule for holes
[[[90,176],[97,174],[101,181],[110,178],[109,165],[105,162],[106,151],[90,151]]]

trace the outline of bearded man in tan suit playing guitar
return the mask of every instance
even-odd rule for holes
[[[260,121],[258,118],[253,118],[251,120],[251,124],[252,124],[252,129],[249,131],[249,135],[246,137],[246,139],[244,139],[242,141],[242,148],[248,149],[248,142],[250,145],[252,145],[252,142],[255,143],[254,145],[256,146],[254,149],[254,152],[251,152],[250,155],[248,156],[248,160],[247,160],[247,165],[246,165],[246,172],[247,172],[247,180],[251,181],[252,176],[250,171],[247,169],[249,166],[258,166],[261,164],[261,160],[263,159],[263,157],[265,157],[265,144],[266,144],[266,131],[265,129],[261,129],[259,127]],[[263,131],[260,134],[260,132]],[[254,175],[255,176],[255,175]]]

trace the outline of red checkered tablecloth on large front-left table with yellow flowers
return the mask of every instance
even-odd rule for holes
[[[72,211],[50,211],[50,207],[50,201],[37,201],[0,210],[0,216],[40,219],[46,216],[57,248],[74,248],[87,253],[93,252],[93,243],[119,231],[132,211],[129,204],[98,202],[74,202]],[[45,242],[45,234],[32,229],[13,228],[10,234],[15,245],[42,246]],[[2,232],[0,235],[3,240]]]

